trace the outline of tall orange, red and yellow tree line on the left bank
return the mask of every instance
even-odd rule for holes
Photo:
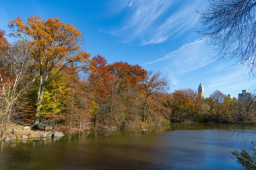
[[[18,17],[9,22],[12,42],[0,33],[1,136],[10,121],[51,120],[66,130],[127,128],[152,121],[168,83],[139,65],[90,58],[82,34],[57,17]]]

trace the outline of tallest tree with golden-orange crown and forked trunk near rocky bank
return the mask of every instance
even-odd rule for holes
[[[13,30],[11,36],[21,38],[30,46],[31,56],[36,62],[39,83],[34,125],[37,125],[46,85],[55,79],[66,65],[84,61],[90,55],[80,50],[79,40],[82,34],[74,26],[64,24],[57,17],[40,20],[38,16],[31,16],[27,24],[17,17],[9,22],[9,28]],[[57,65],[62,67],[50,78],[49,75]]]

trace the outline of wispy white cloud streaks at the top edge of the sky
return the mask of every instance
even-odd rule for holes
[[[127,1],[121,5],[127,10],[124,22],[117,29],[104,31],[120,38],[121,42],[138,41],[140,45],[158,44],[171,36],[183,34],[197,24],[196,10],[200,0],[179,2],[165,0]]]

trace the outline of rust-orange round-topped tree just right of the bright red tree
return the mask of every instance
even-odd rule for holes
[[[147,71],[139,65],[129,65],[127,62],[115,62],[108,65],[108,71],[113,75],[115,91],[111,93],[112,114],[115,125],[123,129],[137,118],[141,105],[141,83],[146,79]]]

